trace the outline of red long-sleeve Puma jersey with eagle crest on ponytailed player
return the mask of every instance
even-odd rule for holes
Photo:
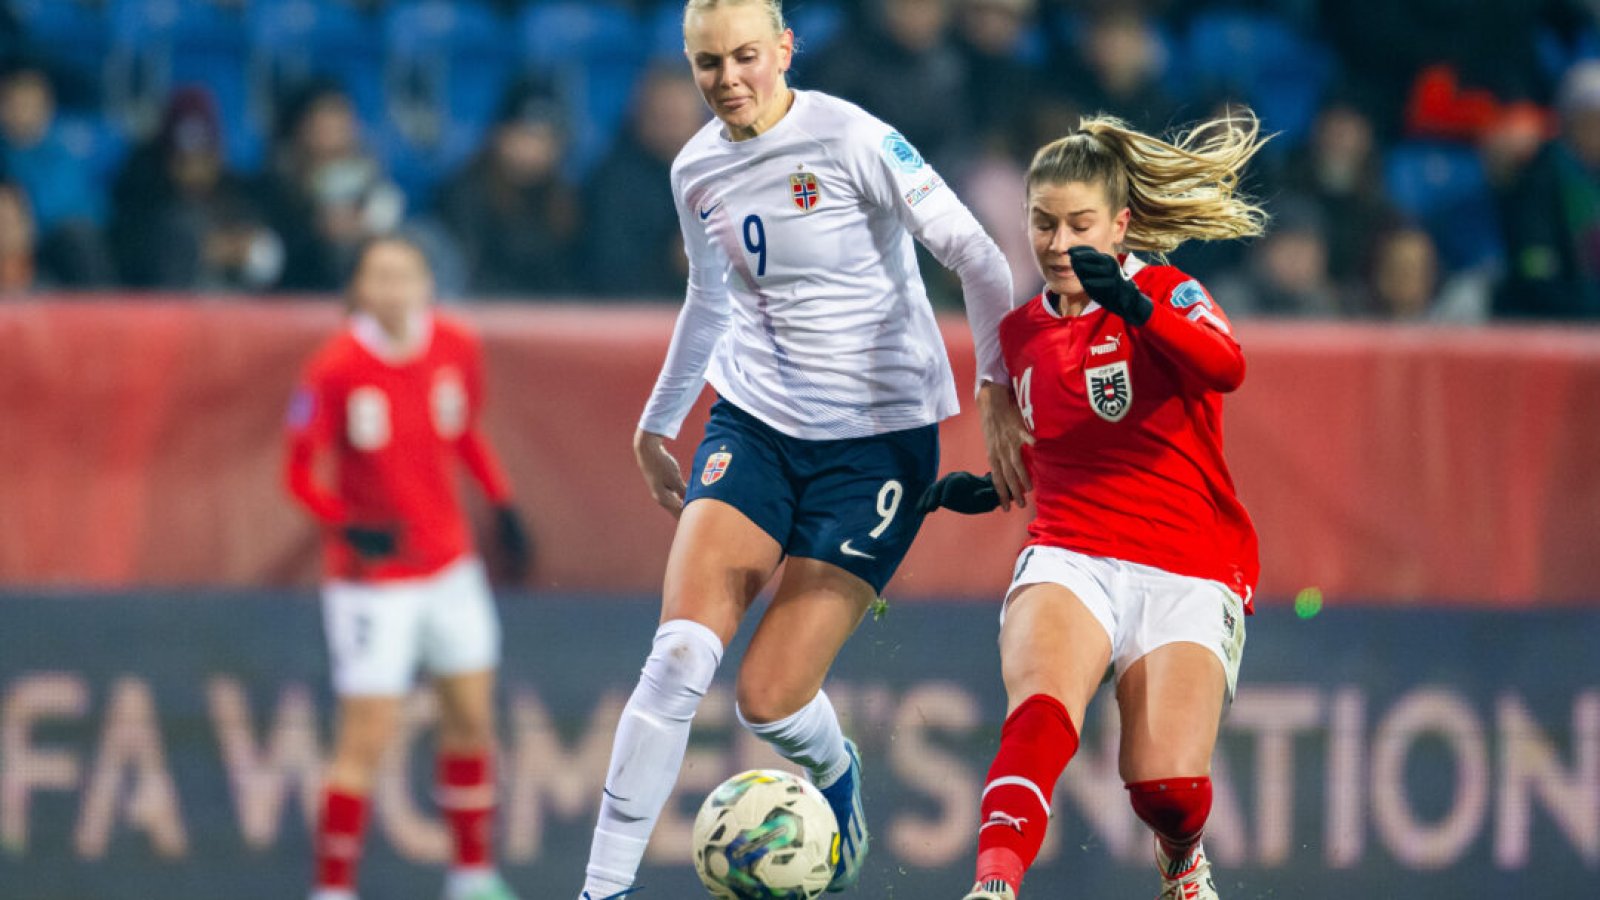
[[[1250,610],[1256,530],[1222,458],[1222,394],[1245,356],[1200,282],[1134,256],[1123,271],[1155,303],[1141,327],[1093,303],[1064,317],[1045,295],[1000,323],[1037,439],[1029,544],[1211,578]]]

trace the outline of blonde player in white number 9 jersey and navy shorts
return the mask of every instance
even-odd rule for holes
[[[867,850],[861,764],[821,690],[917,533],[955,384],[917,272],[920,240],[962,277],[997,487],[1021,503],[1026,429],[997,327],[1005,258],[893,128],[790,90],[778,0],[690,0],[685,51],[715,119],[672,189],[690,283],[634,450],[678,516],[661,626],[618,724],[582,897],[634,890],[690,721],[757,593],[787,559],[738,677],[741,722],[802,765],[843,833],[834,890]],[[664,442],[701,386],[720,399],[685,484]]]

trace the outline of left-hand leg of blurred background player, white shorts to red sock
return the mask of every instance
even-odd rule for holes
[[[334,581],[323,628],[339,695],[333,762],[323,775],[312,900],[354,900],[366,798],[400,725],[418,660],[421,604],[405,583]]]

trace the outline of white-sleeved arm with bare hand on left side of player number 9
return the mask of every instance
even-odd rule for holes
[[[656,388],[650,392],[650,402],[645,404],[638,431],[634,434],[634,456],[650,495],[662,509],[677,516],[683,509],[686,484],[683,469],[666,448],[666,440],[678,436],[678,428],[699,399],[710,354],[728,330],[733,312],[725,285],[728,267],[706,239],[706,226],[693,211],[698,203],[710,207],[718,200],[685,197],[677,171],[672,178],[672,197],[678,210],[678,229],[683,232],[683,250],[690,261],[690,280],[678,323],[672,330],[667,360],[656,376]]]

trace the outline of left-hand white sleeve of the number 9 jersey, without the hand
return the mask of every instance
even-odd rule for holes
[[[694,408],[701,388],[706,384],[706,365],[710,362],[717,343],[728,331],[731,320],[728,301],[728,263],[720,258],[720,251],[706,240],[706,229],[699,227],[694,213],[686,205],[683,191],[678,189],[678,175],[674,171],[674,202],[678,210],[678,227],[683,231],[683,250],[690,261],[690,282],[683,296],[683,309],[678,312],[678,323],[672,330],[672,344],[667,348],[667,360],[656,376],[656,388],[650,392],[645,413],[638,420],[638,428],[664,437],[677,437],[683,420]]]

